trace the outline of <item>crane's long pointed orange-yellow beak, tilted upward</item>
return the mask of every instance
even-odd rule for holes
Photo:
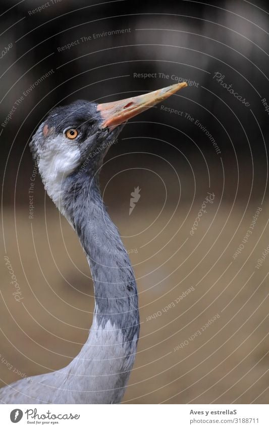
[[[111,129],[128,121],[144,110],[155,106],[155,104],[172,96],[179,89],[188,86],[186,82],[157,89],[156,91],[143,94],[142,96],[130,97],[129,99],[114,101],[112,103],[102,103],[97,105],[97,111],[102,117],[101,128]]]

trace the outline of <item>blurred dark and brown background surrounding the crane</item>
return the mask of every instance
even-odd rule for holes
[[[62,0],[29,14],[42,2],[2,2],[1,386],[67,365],[94,305],[77,237],[37,176],[29,218],[33,131],[57,104],[130,97],[178,76],[197,83],[164,103],[183,114],[158,106],[130,121],[101,176],[139,289],[141,336],[124,402],[268,402],[269,10],[266,2],[206,3]],[[130,31],[93,36],[119,29]],[[141,197],[129,215],[136,186]],[[191,235],[208,193],[213,202]]]

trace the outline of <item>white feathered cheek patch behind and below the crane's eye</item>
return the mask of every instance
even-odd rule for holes
[[[63,215],[66,215],[61,198],[63,183],[80,162],[80,151],[75,141],[60,135],[46,140],[38,168],[48,196]]]

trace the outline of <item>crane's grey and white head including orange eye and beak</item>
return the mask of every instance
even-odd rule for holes
[[[125,123],[165,100],[186,82],[110,103],[84,100],[57,107],[48,114],[30,142],[45,189],[58,208],[61,188],[83,168],[89,176],[100,169],[103,157]]]

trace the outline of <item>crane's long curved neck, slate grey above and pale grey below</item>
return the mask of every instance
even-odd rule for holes
[[[89,337],[72,362],[73,369],[89,376],[85,387],[94,386],[90,389],[92,403],[120,402],[139,336],[136,281],[95,179],[89,183],[81,178],[69,192],[68,212],[90,265],[95,295]]]

